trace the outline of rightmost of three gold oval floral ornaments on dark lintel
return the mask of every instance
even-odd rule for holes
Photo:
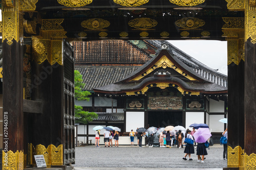
[[[205,21],[199,18],[182,18],[175,22],[176,26],[185,29],[195,29],[205,25]]]

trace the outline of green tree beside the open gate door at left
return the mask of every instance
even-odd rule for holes
[[[74,82],[75,82],[75,99],[78,101],[89,101],[88,96],[91,95],[89,91],[83,91],[84,83],[82,83],[82,75],[78,70],[74,71]],[[98,118],[98,114],[94,112],[83,111],[81,106],[75,105],[75,123],[88,124],[94,118]]]

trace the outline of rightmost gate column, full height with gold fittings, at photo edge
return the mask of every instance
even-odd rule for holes
[[[256,128],[256,7],[246,0],[245,9],[245,142],[244,169],[256,169],[256,138],[252,129]]]

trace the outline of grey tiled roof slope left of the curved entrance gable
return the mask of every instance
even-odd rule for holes
[[[92,91],[93,88],[115,83],[130,75],[140,66],[75,66],[82,75],[83,90]]]

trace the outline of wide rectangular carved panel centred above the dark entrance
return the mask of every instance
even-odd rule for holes
[[[148,109],[182,109],[182,97],[148,97]]]

